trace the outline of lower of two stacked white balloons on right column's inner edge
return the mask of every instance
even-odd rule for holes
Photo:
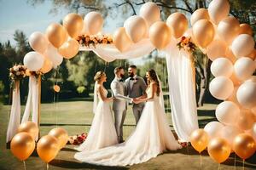
[[[234,85],[227,77],[215,77],[210,82],[209,90],[217,99],[228,99],[234,90]]]

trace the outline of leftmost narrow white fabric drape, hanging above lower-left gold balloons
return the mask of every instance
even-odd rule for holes
[[[12,97],[12,107],[9,116],[6,142],[9,142],[15,136],[20,125],[20,81],[15,81]]]

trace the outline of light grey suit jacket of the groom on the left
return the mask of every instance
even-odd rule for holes
[[[111,82],[111,90],[113,93],[113,96],[116,96],[116,94],[125,95],[126,88],[124,82],[119,82],[119,79],[115,77],[113,81]],[[113,110],[119,110],[119,111],[125,111],[126,109],[126,101],[122,99],[113,99]]]

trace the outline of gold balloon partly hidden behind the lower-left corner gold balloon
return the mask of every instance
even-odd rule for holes
[[[35,122],[23,122],[18,127],[18,133],[29,133],[35,140],[38,137],[38,125]]]

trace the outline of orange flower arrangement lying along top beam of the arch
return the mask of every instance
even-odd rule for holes
[[[90,47],[92,45],[94,48],[96,48],[96,44],[113,43],[112,37],[107,35],[82,35],[77,38],[77,41],[82,46]]]

